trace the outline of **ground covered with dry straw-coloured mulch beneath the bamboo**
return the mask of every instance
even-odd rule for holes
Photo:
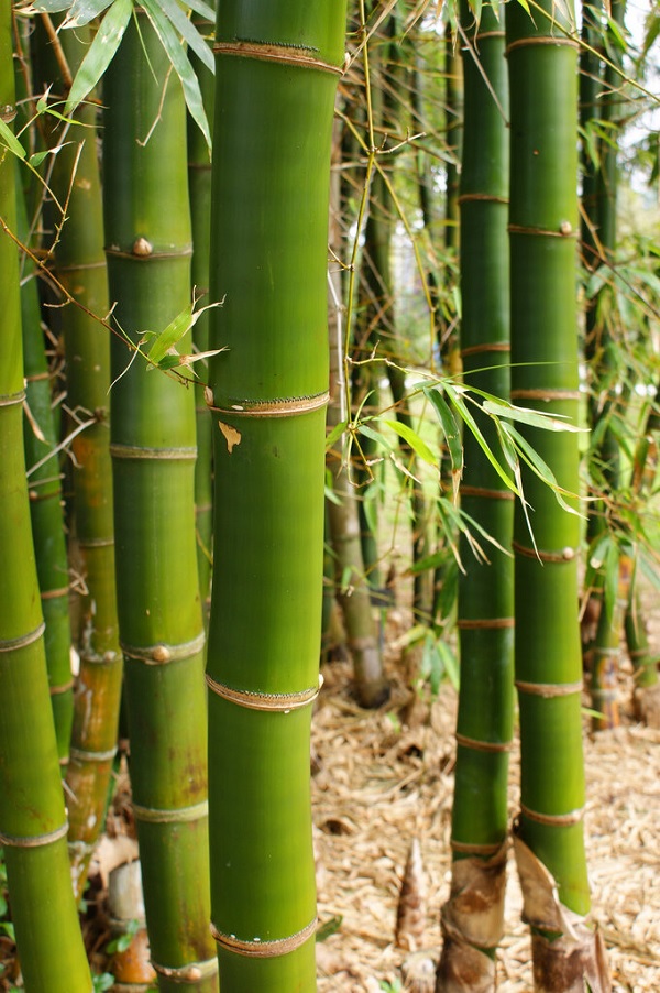
[[[455,691],[411,707],[388,661],[392,699],[361,710],[350,667],[324,666],[312,722],[312,797],[319,918],[334,934],[318,945],[319,993],[432,993],[440,907],[449,894]],[[591,733],[585,717],[585,833],[593,919],[605,938],[616,993],[660,991],[660,731],[637,723],[622,679],[622,727]],[[585,699],[585,706],[587,701]],[[509,811],[518,806],[512,756]],[[395,941],[398,895],[411,840],[419,840],[426,913],[414,950]],[[531,991],[528,930],[509,853],[501,993]]]

